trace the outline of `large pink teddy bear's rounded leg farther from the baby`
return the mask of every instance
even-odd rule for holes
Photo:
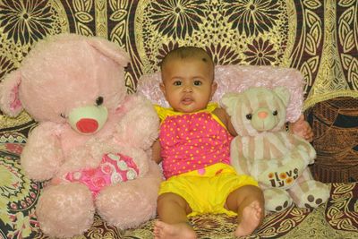
[[[47,186],[36,209],[41,230],[60,238],[81,235],[89,229],[94,212],[90,190],[78,183]]]

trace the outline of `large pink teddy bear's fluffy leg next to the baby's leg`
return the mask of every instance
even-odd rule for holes
[[[155,217],[161,173],[154,161],[149,172],[135,180],[105,187],[99,192],[98,214],[110,225],[126,229]]]

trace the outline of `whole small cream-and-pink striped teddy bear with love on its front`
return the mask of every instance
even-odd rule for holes
[[[284,87],[256,87],[228,93],[220,102],[238,133],[231,142],[231,164],[238,174],[258,180],[268,211],[281,211],[293,201],[299,207],[316,208],[329,195],[328,187],[313,180],[308,169],[315,149],[286,132],[289,98]]]

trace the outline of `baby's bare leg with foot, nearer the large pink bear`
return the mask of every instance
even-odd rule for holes
[[[187,214],[192,212],[188,202],[175,193],[163,193],[158,197],[158,215],[160,221],[154,225],[154,238],[188,238],[196,235],[189,225]]]

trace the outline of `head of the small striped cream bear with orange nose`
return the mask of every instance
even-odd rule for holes
[[[253,87],[242,93],[227,93],[220,103],[230,115],[239,135],[255,136],[283,128],[289,98],[289,91],[285,87],[273,90]]]

